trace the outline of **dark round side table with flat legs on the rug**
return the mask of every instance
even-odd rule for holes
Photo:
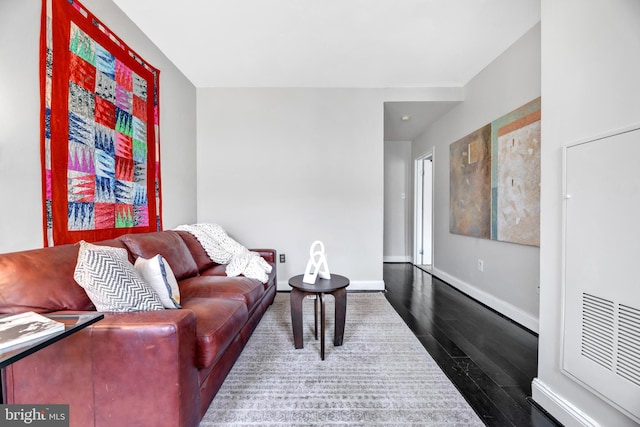
[[[304,283],[303,274],[294,276],[289,279],[291,286],[291,325],[293,326],[293,342],[296,348],[303,347],[302,338],[302,300],[307,295],[315,295],[314,302],[314,330],[316,339],[318,339],[318,303],[320,304],[320,358],[324,360],[324,294],[331,294],[335,298],[335,333],[333,337],[333,345],[338,347],[342,345],[344,337],[344,321],[347,314],[347,286],[349,279],[344,276],[332,274],[330,279],[321,279],[318,277],[316,283]]]

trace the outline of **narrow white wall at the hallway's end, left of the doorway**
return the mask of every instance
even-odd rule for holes
[[[384,262],[411,262],[413,245],[411,141],[384,142]]]

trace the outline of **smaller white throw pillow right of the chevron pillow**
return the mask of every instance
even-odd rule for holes
[[[180,288],[169,263],[158,254],[151,259],[138,257],[134,267],[140,276],[160,296],[165,308],[180,307]]]

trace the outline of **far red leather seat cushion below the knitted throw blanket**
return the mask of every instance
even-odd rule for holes
[[[249,311],[264,294],[259,280],[246,277],[198,276],[178,282],[182,298],[215,297],[243,301]]]

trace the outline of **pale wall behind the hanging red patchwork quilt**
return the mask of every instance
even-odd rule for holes
[[[160,73],[164,226],[196,218],[196,91],[111,1],[83,4]],[[0,252],[42,247],[40,0],[0,2]]]

